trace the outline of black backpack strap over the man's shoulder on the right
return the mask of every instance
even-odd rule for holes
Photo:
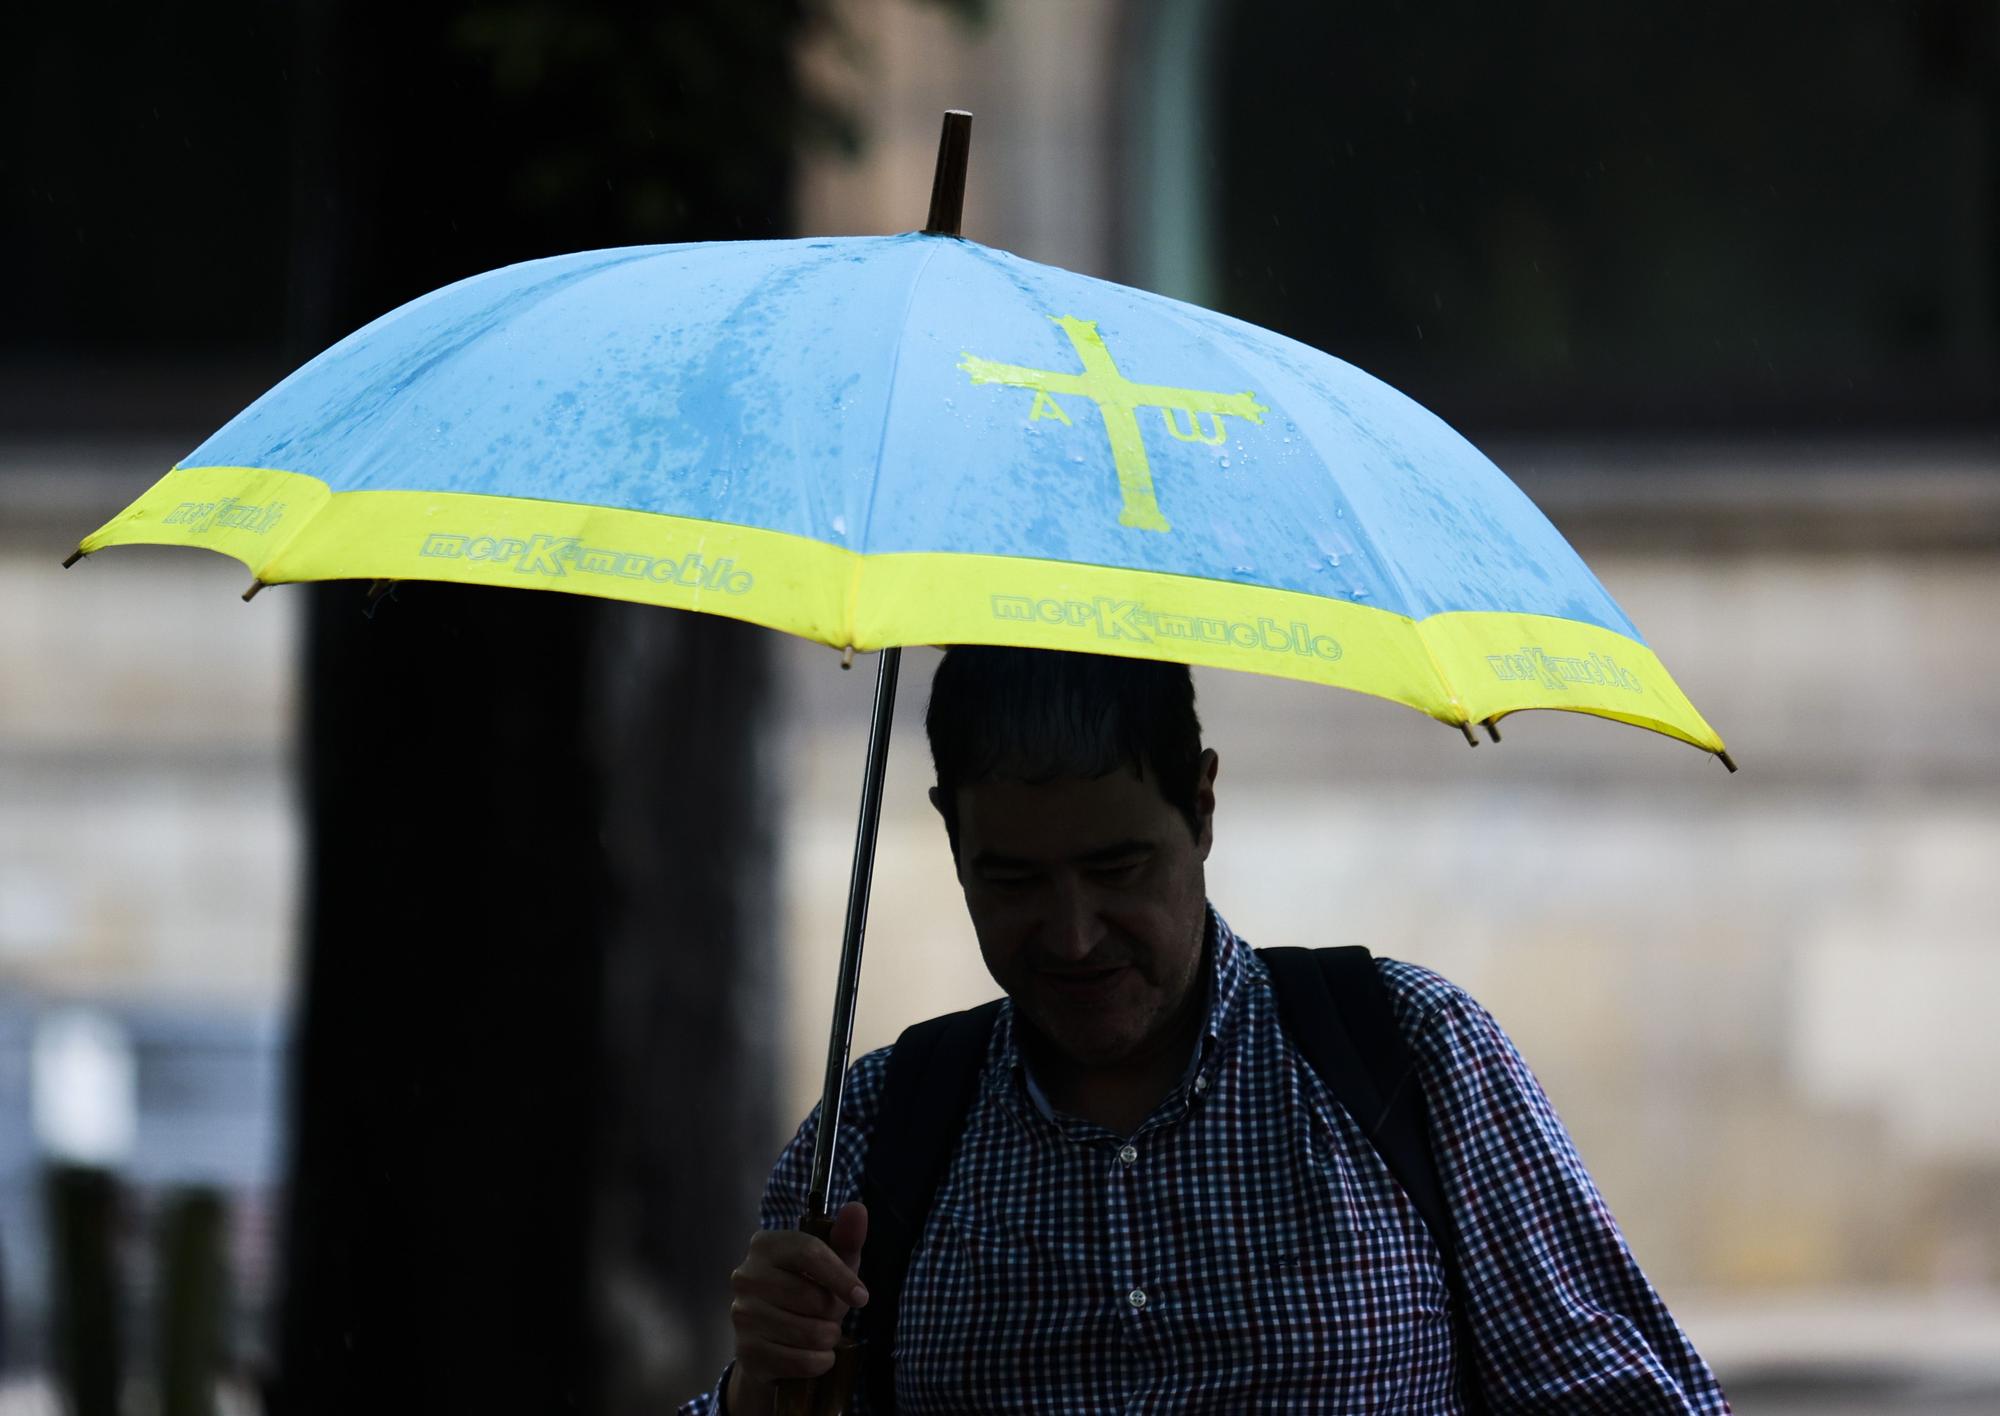
[[[1306,1064],[1346,1108],[1424,1216],[1444,1258],[1452,1332],[1458,1338],[1460,1390],[1468,1410],[1486,1410],[1478,1358],[1458,1276],[1458,1236],[1444,1204],[1438,1160],[1430,1148],[1430,1112],[1416,1056],[1402,1040],[1396,1012],[1366,948],[1260,948],[1278,994],[1278,1018]]]

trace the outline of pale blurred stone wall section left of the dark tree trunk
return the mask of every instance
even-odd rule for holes
[[[0,984],[270,1008],[296,604],[234,604],[250,578],[220,556],[60,568],[182,452],[0,444]]]

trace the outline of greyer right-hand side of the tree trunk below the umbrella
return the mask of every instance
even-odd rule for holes
[[[770,1164],[770,670],[728,620],[606,606],[596,630],[614,886],[592,1264],[604,1410],[640,1416],[714,1380]]]

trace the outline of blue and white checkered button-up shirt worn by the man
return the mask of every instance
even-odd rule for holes
[[[1430,1104],[1472,1354],[1424,1220],[1210,916],[1206,1038],[1132,1136],[1052,1112],[1002,1006],[902,1292],[896,1402],[926,1412],[1726,1412],[1500,1024],[1376,960]],[[848,1080],[834,1204],[856,1198],[890,1050]],[[762,1224],[796,1226],[816,1114]],[[720,1412],[720,1388],[680,1408]],[[856,1394],[856,1412],[868,1412]]]

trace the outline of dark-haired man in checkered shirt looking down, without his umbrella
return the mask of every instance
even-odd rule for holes
[[[1208,906],[1186,668],[954,648],[926,728],[1008,1002],[902,1288],[900,1412],[1728,1410],[1500,1026],[1376,960],[1456,1230],[1454,1334],[1438,1242]],[[890,1052],[852,1070],[836,1204]],[[772,1410],[868,1300],[860,1204],[830,1246],[796,1230],[812,1140],[808,1118],[732,1274],[736,1360],[684,1412]]]

